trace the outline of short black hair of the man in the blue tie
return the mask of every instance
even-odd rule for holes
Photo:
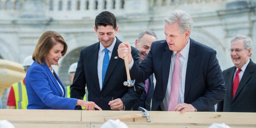
[[[113,13],[110,13],[109,11],[102,11],[95,18],[95,27],[98,29],[98,26],[107,25],[111,25],[113,26],[113,29],[115,29],[117,27],[117,20]]]

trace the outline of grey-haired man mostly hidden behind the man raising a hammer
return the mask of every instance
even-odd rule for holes
[[[150,51],[152,42],[157,41],[157,35],[149,30],[142,31],[139,33],[138,38],[135,40],[135,48],[139,50],[141,56],[141,62],[147,57]],[[138,110],[139,107],[151,110],[151,99],[154,93],[154,76],[153,74],[145,80],[145,91],[142,95],[142,99],[132,108]]]

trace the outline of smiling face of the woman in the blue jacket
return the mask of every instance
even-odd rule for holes
[[[64,50],[64,45],[62,43],[57,42],[55,45],[53,45],[53,47],[51,48],[49,53],[46,55],[44,60],[47,66],[50,67],[51,65],[57,65],[58,61],[62,57],[63,50]]]

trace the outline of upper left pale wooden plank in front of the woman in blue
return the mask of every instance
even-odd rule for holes
[[[81,110],[0,109],[0,120],[8,121],[81,121]]]

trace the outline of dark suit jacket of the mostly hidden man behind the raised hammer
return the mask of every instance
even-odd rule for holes
[[[146,110],[151,110],[151,99],[154,93],[154,76],[153,74],[148,77],[149,80],[149,87],[148,87],[148,95],[146,94],[146,91],[144,91],[141,100],[135,104],[135,106],[132,107],[132,110],[138,110],[139,107],[145,108]]]

